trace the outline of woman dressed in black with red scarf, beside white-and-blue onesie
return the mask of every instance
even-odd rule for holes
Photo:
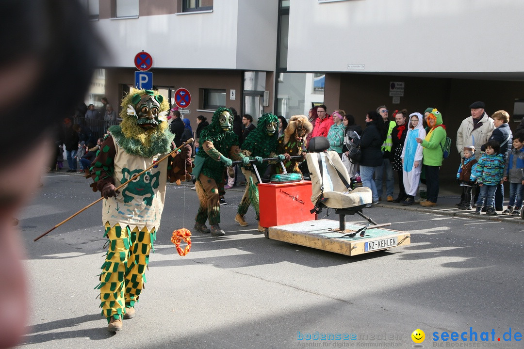
[[[409,119],[406,119],[409,117],[408,110],[402,109],[396,114],[393,114],[393,117],[395,118],[395,122],[397,125],[391,130],[391,166],[393,167],[393,170],[397,171],[398,175],[398,188],[399,193],[398,197],[393,200],[393,202],[396,202],[397,204],[401,201],[404,201],[406,199],[406,190],[404,189],[404,181],[402,180],[403,174],[402,174],[402,159],[400,156],[402,155],[402,149],[404,148],[404,141],[406,140],[406,135],[408,134],[408,122]],[[408,122],[406,122],[406,120]]]

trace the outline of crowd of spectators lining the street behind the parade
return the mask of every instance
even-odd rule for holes
[[[107,98],[102,98],[103,107],[96,110],[93,104],[85,112],[78,108],[77,114],[85,119],[116,121],[117,114]],[[85,106],[85,105],[84,105]],[[234,118],[233,131],[239,144],[250,131],[256,128],[249,114],[240,116],[230,108]],[[79,111],[80,110],[80,111]],[[515,135],[508,122],[509,114],[498,110],[488,116],[483,102],[470,105],[471,115],[465,118],[456,133],[455,146],[461,156],[457,181],[461,193],[456,207],[461,210],[476,209],[488,215],[519,215],[522,208],[524,188],[524,124],[521,123]],[[350,174],[352,186],[359,185],[372,190],[373,205],[383,200],[409,206],[423,207],[437,205],[439,197],[439,173],[444,159],[451,151],[452,139],[446,130],[441,112],[433,107],[409,113],[407,109],[391,112],[385,105],[367,112],[364,129],[356,125],[355,117],[342,109],[331,114],[321,104],[309,110],[308,119],[313,126],[302,145],[306,150],[313,137],[326,137],[329,150],[341,157]],[[199,134],[209,125],[202,115],[196,118],[196,132],[191,122],[183,118],[177,107],[170,109],[168,122],[175,134],[174,142],[181,144],[194,137],[192,154],[198,151]],[[278,137],[287,127],[287,119],[278,116]],[[92,155],[96,152],[95,132],[88,126],[74,124],[71,118],[64,121],[61,137],[57,142],[57,159],[52,168],[60,170],[63,163],[63,149],[68,161],[69,172],[84,172]],[[350,159],[350,151],[358,144],[362,156],[358,162]],[[305,162],[300,166],[303,168]],[[304,168],[303,168],[304,169]],[[307,170],[307,169],[306,169]],[[269,172],[269,170],[268,170]],[[263,175],[263,174],[262,174]],[[267,175],[267,173],[266,173]],[[239,178],[240,177],[240,178]],[[384,183],[385,182],[385,183]],[[509,204],[504,208],[504,182],[509,186]],[[231,189],[245,185],[245,178],[236,165],[224,172],[224,188]],[[394,193],[397,193],[395,198]],[[417,195],[419,198],[416,200]],[[224,194],[220,204],[226,205]]]

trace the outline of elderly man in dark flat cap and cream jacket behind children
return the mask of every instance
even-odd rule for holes
[[[473,103],[470,106],[471,116],[462,121],[457,131],[456,147],[461,157],[464,147],[474,145],[475,149],[481,149],[495,129],[493,119],[486,114],[484,108],[484,102]],[[475,154],[477,160],[480,156],[481,152]]]

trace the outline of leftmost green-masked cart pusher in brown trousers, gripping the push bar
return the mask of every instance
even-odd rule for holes
[[[224,167],[231,166],[233,160],[242,160],[244,165],[249,163],[249,157],[244,156],[238,147],[230,109],[216,109],[211,124],[200,133],[199,144],[193,175],[196,177],[195,187],[200,207],[196,212],[194,229],[202,233],[211,232],[215,238],[221,237],[225,232],[219,225],[219,190],[224,191]],[[211,229],[206,227],[206,220],[209,220]]]

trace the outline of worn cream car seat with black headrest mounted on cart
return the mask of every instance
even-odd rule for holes
[[[362,214],[362,209],[373,201],[372,191],[367,187],[351,189],[351,179],[339,154],[326,151],[329,141],[325,137],[314,137],[308,147],[305,159],[311,177],[311,201],[315,210],[334,208],[340,217],[340,230],[345,230],[345,216],[355,215],[373,222]]]

